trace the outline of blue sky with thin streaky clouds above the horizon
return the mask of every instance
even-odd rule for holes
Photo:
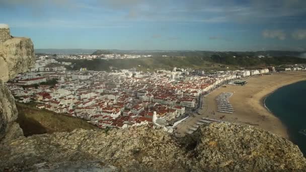
[[[0,0],[39,48],[306,50],[305,0]]]

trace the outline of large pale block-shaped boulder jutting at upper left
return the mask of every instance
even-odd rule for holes
[[[14,37],[0,43],[0,80],[4,82],[34,66],[34,46],[29,38]]]

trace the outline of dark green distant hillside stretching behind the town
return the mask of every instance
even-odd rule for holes
[[[211,56],[198,57],[146,57],[135,59],[111,59],[111,60],[70,60],[58,59],[60,61],[70,61],[73,64],[72,70],[79,70],[81,67],[87,67],[89,70],[110,70],[114,69],[130,69],[137,68],[141,70],[146,69],[171,69],[173,67],[190,67],[190,68],[205,68],[217,69],[224,65],[235,67],[263,67],[269,65],[281,64],[300,64],[306,63],[306,59],[297,57],[245,57],[236,56],[226,53],[213,54]],[[223,66],[221,65],[223,64]]]

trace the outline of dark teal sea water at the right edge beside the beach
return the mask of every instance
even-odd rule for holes
[[[306,156],[306,81],[276,90],[265,99],[265,106],[283,122],[290,140]]]

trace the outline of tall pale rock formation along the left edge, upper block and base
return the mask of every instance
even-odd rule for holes
[[[29,38],[10,38],[8,25],[0,24],[0,140],[23,135],[17,119],[14,97],[4,82],[25,72],[35,63],[34,46]]]

